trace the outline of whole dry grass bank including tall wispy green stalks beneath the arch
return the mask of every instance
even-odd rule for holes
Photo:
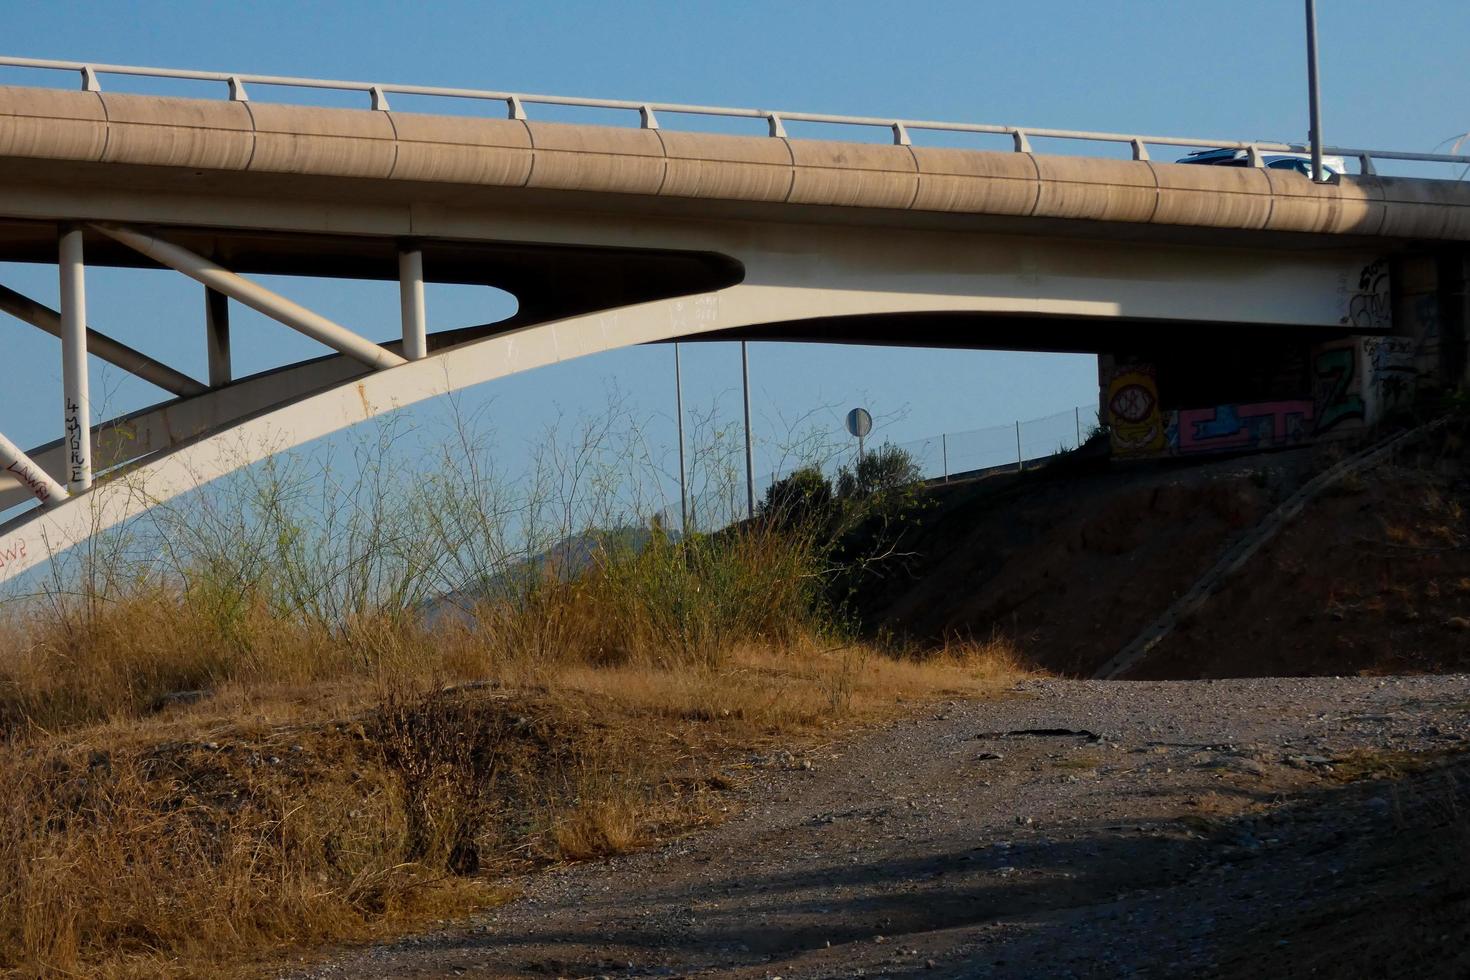
[[[720,818],[756,748],[1020,673],[854,642],[800,520],[617,517],[595,439],[519,497],[387,448],[315,502],[270,461],[0,605],[0,971],[216,976],[465,914]]]

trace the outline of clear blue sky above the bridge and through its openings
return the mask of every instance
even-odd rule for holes
[[[1427,151],[1470,128],[1470,4],[1319,6],[1330,143]],[[1222,138],[1301,140],[1307,128],[1301,0],[13,0],[4,21],[0,53],[29,57]],[[40,76],[0,69],[0,82],[22,81]],[[0,282],[54,304],[54,266],[0,264]],[[268,285],[368,335],[398,329],[392,284]],[[93,326],[203,376],[196,284],[97,269],[88,287]],[[431,329],[510,309],[488,289],[429,291]],[[320,351],[238,307],[235,345],[241,372]],[[735,348],[685,350],[686,398],[719,397],[736,414]],[[57,342],[0,322],[0,351],[9,372],[0,430],[22,445],[56,438]],[[637,410],[657,416],[653,438],[672,444],[670,359],[667,347],[620,351],[475,397],[492,398],[503,433],[537,430],[559,410],[598,410],[616,381]],[[751,363],[764,454],[757,467],[772,461],[785,420],[822,406],[832,407],[819,419],[833,433],[842,411],[861,403],[885,423],[881,435],[904,441],[1095,400],[1091,357],[761,344]],[[94,398],[109,408],[154,400],[153,389],[97,361],[93,381]]]

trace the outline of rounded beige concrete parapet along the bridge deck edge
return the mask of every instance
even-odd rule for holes
[[[1470,184],[0,87],[0,162],[760,201],[872,212],[1470,239]],[[37,165],[37,166],[28,166]],[[100,175],[97,176],[100,178]],[[131,182],[147,182],[132,173]],[[176,188],[176,184],[173,185]],[[272,198],[310,181],[269,182]]]

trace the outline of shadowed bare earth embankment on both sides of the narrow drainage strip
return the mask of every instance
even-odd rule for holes
[[[1113,464],[935,491],[907,566],[861,597],[919,641],[1008,636],[1091,676],[1244,533],[1345,453]],[[1470,666],[1470,470],[1441,436],[1307,511],[1136,670],[1139,677]]]

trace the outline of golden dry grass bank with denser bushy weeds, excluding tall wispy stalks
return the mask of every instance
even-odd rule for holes
[[[509,873],[719,818],[754,746],[1019,673],[1001,644],[848,642],[800,555],[736,544],[703,569],[614,557],[434,626],[265,601],[222,626],[159,583],[12,617],[0,968],[197,976],[465,914]],[[738,601],[695,604],[716,579]]]

